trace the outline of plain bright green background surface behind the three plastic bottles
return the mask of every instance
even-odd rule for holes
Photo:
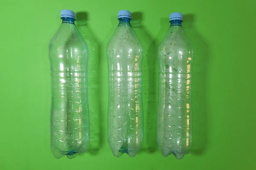
[[[61,24],[61,9],[66,8],[87,20],[79,30],[90,50],[91,144],[71,160],[55,159],[49,141],[48,43]],[[255,0],[1,1],[0,169],[254,169],[255,8]],[[106,45],[122,9],[133,13],[132,24],[144,48],[145,138],[133,158],[114,157],[106,133]],[[195,48],[194,143],[182,160],[161,156],[156,143],[157,47],[169,27],[169,14],[176,11],[183,13],[184,29]]]

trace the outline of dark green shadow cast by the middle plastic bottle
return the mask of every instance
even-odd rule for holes
[[[131,14],[131,25],[143,45],[143,112],[144,142],[141,151],[152,153],[157,150],[157,45],[142,24],[143,14]]]

